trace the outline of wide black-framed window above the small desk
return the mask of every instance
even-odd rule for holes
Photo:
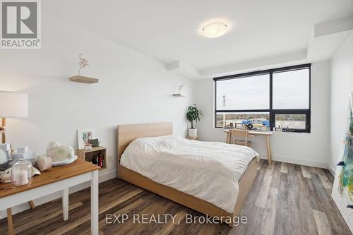
[[[215,127],[253,124],[310,133],[311,64],[215,80]]]

